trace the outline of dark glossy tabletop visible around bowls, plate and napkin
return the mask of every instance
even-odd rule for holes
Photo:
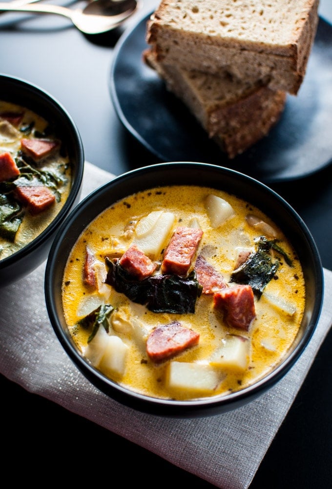
[[[135,16],[149,13],[145,0]],[[332,1],[319,13],[332,22]],[[115,44],[125,28],[87,37],[55,16],[0,16],[0,72],[39,85],[69,111],[81,133],[85,158],[115,174],[159,160],[122,126],[109,94]],[[331,87],[332,96],[332,87]],[[330,128],[332,137],[332,127]],[[270,186],[300,214],[332,270],[332,165],[307,178]],[[163,486],[212,488],[186,471],[58,404],[0,377],[2,477],[11,483],[66,482],[143,487],[151,472]],[[290,411],[264,457],[250,489],[332,488],[332,331],[320,348]],[[128,467],[130,469],[128,470]],[[115,479],[114,479],[115,477]],[[154,484],[155,485],[155,484]]]

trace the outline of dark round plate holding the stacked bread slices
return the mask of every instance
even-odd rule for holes
[[[145,66],[148,16],[120,39],[110,73],[110,93],[126,129],[161,161],[201,161],[226,166],[262,182],[307,177],[332,162],[332,25],[319,19],[307,73],[297,96],[269,135],[233,160],[167,92]]]

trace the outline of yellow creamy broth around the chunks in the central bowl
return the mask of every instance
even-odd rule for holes
[[[208,196],[221,198],[230,204],[233,213],[225,222],[213,222],[214,216],[207,209]],[[257,246],[255,240],[264,235],[262,229],[270,231],[271,226],[278,245],[292,263],[288,265],[283,256],[271,251],[272,260],[278,261],[279,267],[262,295],[254,297],[255,318],[250,322],[248,331],[225,322],[222,311],[213,306],[213,294],[202,293],[198,296],[194,312],[153,312],[105,283],[105,257],[119,258],[133,243],[138,243],[140,247],[140,241],[137,241],[138,230],[142,232],[140,222],[156,211],[172,213],[174,220],[161,253],[151,256],[151,260],[158,264],[155,273],[160,273],[159,265],[174,230],[179,225],[199,226],[203,237],[192,266],[196,257],[203,255],[207,263],[222,274],[227,287],[234,285],[230,278],[241,251],[254,253]],[[258,219],[248,222],[248,215]],[[259,227],[257,222],[260,221],[265,227]],[[145,229],[143,235],[144,232]],[[95,257],[96,288],[83,281],[87,246]],[[305,304],[305,286],[300,263],[287,237],[261,210],[223,191],[198,186],[167,186],[128,196],[111,205],[88,225],[72,249],[65,268],[62,304],[66,322],[78,348],[97,369],[131,390],[157,398],[182,400],[237,391],[262,378],[277,365],[298,332]],[[120,370],[113,369],[109,362],[96,354],[99,348],[97,344],[103,341],[103,335],[97,333],[88,345],[91,328],[80,324],[83,317],[101,304],[115,308],[108,317],[109,330],[106,334],[121,339],[120,350],[125,345],[122,357],[124,366]],[[156,363],[146,353],[146,339],[156,326],[174,321],[199,333],[199,342],[170,359]],[[104,328],[100,327],[100,330],[105,333]],[[219,364],[215,361],[218,358],[216,352],[225,338],[233,336],[248,340],[245,364]],[[241,358],[244,358],[243,355]],[[181,373],[181,367],[187,365],[194,366],[194,377],[204,378],[203,371],[207,377],[214,376],[213,386],[204,379],[191,383],[187,379],[187,370]],[[172,380],[173,367],[176,367],[176,381]]]

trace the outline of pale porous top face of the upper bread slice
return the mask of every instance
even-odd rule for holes
[[[317,0],[166,0],[155,19],[197,34],[287,45],[298,41],[317,5]]]

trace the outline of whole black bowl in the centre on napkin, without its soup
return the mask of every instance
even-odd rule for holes
[[[106,378],[78,352],[62,312],[62,276],[72,246],[84,228],[106,207],[135,192],[160,185],[192,184],[222,189],[264,210],[285,232],[300,259],[306,306],[299,333],[282,363],[253,385],[223,397],[161,400],[131,392]],[[299,358],[316,327],[323,300],[323,270],[317,247],[305,223],[290,205],[266,185],[233,170],[194,162],[173,162],[133,170],[106,183],[85,198],[62,224],[51,247],[45,273],[45,298],[51,324],[64,350],[92,384],[132,408],[177,417],[217,414],[239,407],[270,388]]]

